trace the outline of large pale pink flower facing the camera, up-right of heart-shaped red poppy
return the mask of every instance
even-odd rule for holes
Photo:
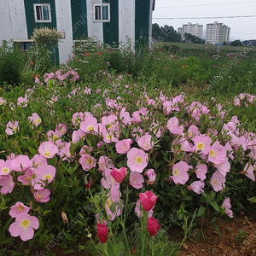
[[[143,172],[144,168],[148,166],[148,154],[142,149],[131,148],[127,153],[127,166],[131,172]]]

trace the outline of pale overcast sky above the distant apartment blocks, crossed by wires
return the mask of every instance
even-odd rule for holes
[[[220,18],[228,16],[250,16]],[[191,18],[209,19],[191,19]],[[217,18],[218,17],[218,18]],[[157,19],[160,18],[160,19]],[[172,18],[172,19],[162,19]],[[174,18],[174,19],[173,19]],[[183,19],[190,18],[190,19]],[[230,41],[256,39],[256,1],[252,0],[155,0],[153,23],[173,26],[175,30],[191,22],[203,25],[203,37],[207,23],[218,21],[230,26]]]

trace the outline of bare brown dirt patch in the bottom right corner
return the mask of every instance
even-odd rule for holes
[[[250,214],[241,212],[227,222],[217,221],[221,237],[212,225],[203,228],[203,237],[195,242],[195,235],[183,243],[178,256],[254,256],[256,255],[256,208]]]

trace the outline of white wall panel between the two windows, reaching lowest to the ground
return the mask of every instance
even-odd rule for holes
[[[73,26],[70,0],[55,0],[56,25],[58,32],[63,32],[65,38],[59,42],[60,63],[65,63],[71,54],[73,45]]]

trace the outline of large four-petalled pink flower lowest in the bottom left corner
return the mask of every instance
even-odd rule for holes
[[[22,241],[27,241],[32,239],[34,230],[38,230],[38,227],[38,218],[22,213],[16,218],[15,223],[10,224],[9,232],[11,236],[20,236]]]

